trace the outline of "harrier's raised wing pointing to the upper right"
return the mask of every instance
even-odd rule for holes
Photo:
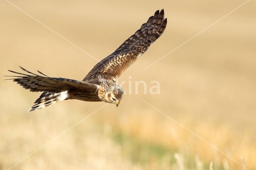
[[[92,68],[83,81],[104,78],[115,81],[126,68],[146,52],[166,28],[167,18],[164,10],[157,10],[134,35],[130,36],[114,53],[104,58]]]

